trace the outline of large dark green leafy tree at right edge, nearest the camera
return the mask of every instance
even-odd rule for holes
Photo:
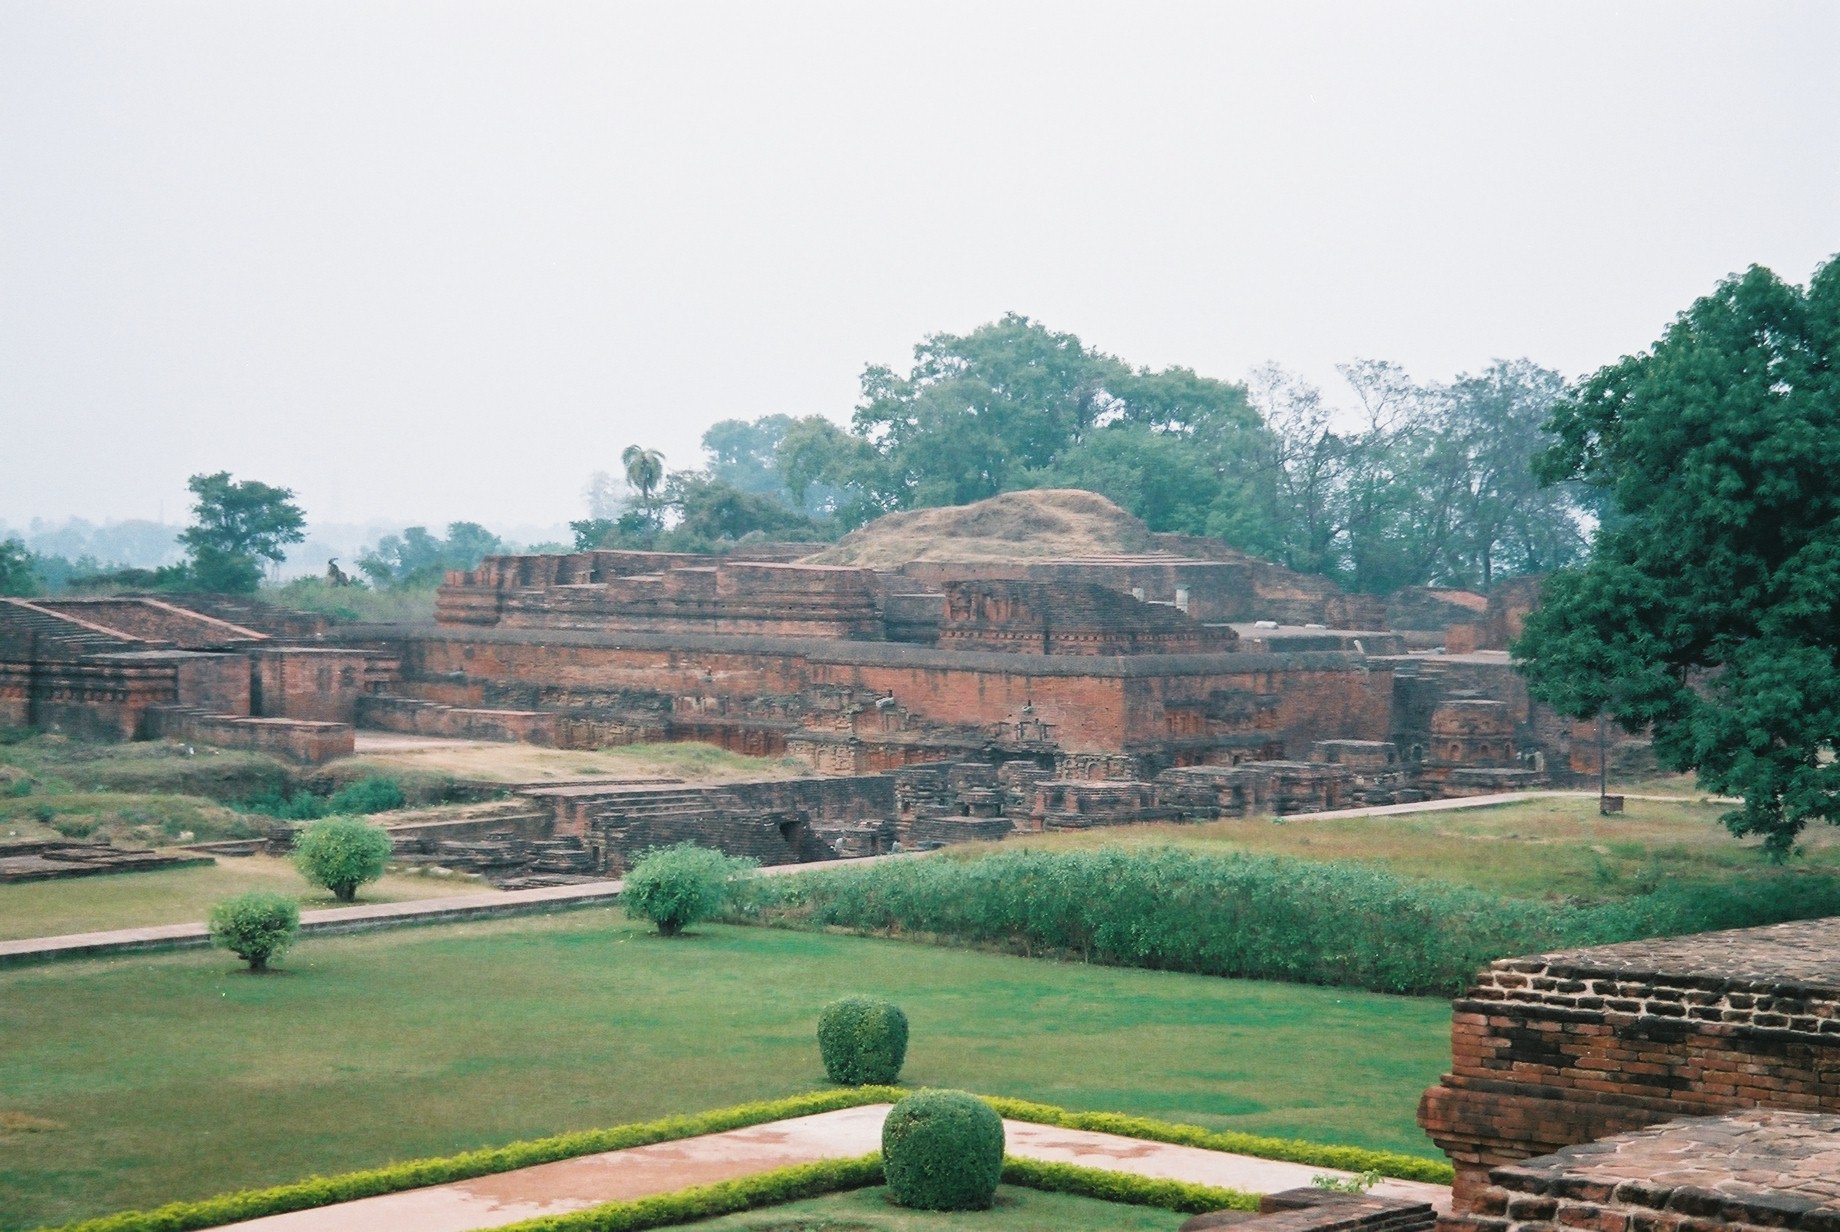
[[[1840,259],[1807,291],[1757,267],[1720,283],[1553,430],[1544,476],[1617,519],[1514,645],[1533,693],[1652,726],[1774,855],[1840,820]]]

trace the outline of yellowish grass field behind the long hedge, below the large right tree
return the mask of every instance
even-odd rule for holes
[[[1018,844],[1041,848],[1183,846],[1257,851],[1305,861],[1354,861],[1402,877],[1430,877],[1514,897],[1603,901],[1667,883],[1755,883],[1840,870],[1840,829],[1811,826],[1803,855],[1776,866],[1759,846],[1719,822],[1730,805],[1628,800],[1621,816],[1599,816],[1597,798],[1547,798],[1487,809],[1316,820],[1297,815],[1190,826],[1106,826],[1016,835],[972,855]]]

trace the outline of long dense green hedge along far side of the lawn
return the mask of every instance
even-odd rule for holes
[[[1577,907],[1362,864],[1181,848],[1018,850],[771,881],[756,890],[765,923],[1443,997],[1511,954],[1805,919],[1836,901],[1834,879],[1798,877]]]

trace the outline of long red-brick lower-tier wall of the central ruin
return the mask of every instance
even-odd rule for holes
[[[561,631],[408,633],[396,645],[401,690],[427,701],[605,721],[650,713],[673,732],[804,739],[822,693],[891,699],[911,726],[856,737],[940,748],[927,756],[990,741],[1143,754],[1167,765],[1187,748],[1202,758],[1235,734],[1303,756],[1325,732],[1384,739],[1391,704],[1386,666],[1351,655],[1075,658]]]

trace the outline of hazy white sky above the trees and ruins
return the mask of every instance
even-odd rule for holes
[[[1840,252],[1840,4],[0,6],[0,519],[581,517],[1019,311],[1135,364],[1647,346]]]

